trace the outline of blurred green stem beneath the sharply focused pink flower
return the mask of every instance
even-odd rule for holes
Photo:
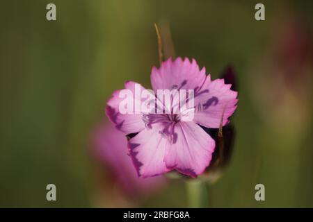
[[[186,181],[186,190],[188,194],[188,207],[208,207],[207,187],[205,187],[204,182],[199,180]]]

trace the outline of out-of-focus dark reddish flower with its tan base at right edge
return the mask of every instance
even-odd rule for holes
[[[252,65],[251,95],[271,130],[288,139],[301,138],[312,119],[313,35],[300,15],[279,17],[269,33],[262,59]],[[264,93],[266,92],[266,93]],[[277,136],[276,136],[277,137]]]

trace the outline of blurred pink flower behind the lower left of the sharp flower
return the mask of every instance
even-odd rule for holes
[[[138,178],[127,151],[127,138],[112,123],[101,123],[93,133],[97,160],[108,167],[117,185],[129,196],[148,194],[161,188],[166,178]]]

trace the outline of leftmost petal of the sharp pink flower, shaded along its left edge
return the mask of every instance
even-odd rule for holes
[[[123,133],[138,133],[145,128],[145,122],[142,119],[141,114],[136,114],[135,107],[136,104],[140,104],[141,101],[136,99],[135,85],[139,83],[127,82],[125,83],[125,88],[131,90],[133,99],[133,114],[122,114],[120,113],[119,107],[120,103],[124,100],[120,98],[120,92],[122,89],[113,92],[113,96],[109,99],[106,106],[106,115],[109,117],[112,123],[118,130]],[[141,86],[141,92],[144,88]],[[138,97],[140,99],[140,96]]]

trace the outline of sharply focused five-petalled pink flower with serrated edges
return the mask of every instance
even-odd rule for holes
[[[205,68],[200,70],[197,62],[188,58],[169,58],[159,69],[153,67],[151,83],[155,94],[158,89],[193,89],[194,106],[178,113],[173,112],[177,105],[174,103],[169,114],[122,114],[120,90],[113,93],[106,114],[118,130],[135,135],[129,139],[128,147],[138,176],[157,176],[172,170],[191,177],[200,175],[209,166],[216,146],[201,126],[219,128],[221,123],[229,123],[228,118],[236,110],[237,92],[223,79],[212,81]],[[135,95],[136,84],[127,82],[125,88]],[[183,102],[188,99],[187,96]],[[134,96],[134,107],[143,101]],[[191,121],[182,121],[186,112],[193,112]]]

